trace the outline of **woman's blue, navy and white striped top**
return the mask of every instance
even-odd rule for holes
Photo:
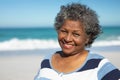
[[[98,54],[89,53],[84,64],[70,73],[57,72],[51,65],[51,57],[41,62],[34,80],[120,80],[120,71]]]

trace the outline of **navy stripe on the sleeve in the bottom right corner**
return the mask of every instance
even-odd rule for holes
[[[118,80],[120,79],[120,71],[118,69],[114,69],[108,74],[106,74],[101,80]]]

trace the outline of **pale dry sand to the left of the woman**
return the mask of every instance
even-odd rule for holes
[[[41,56],[0,57],[0,80],[33,80]]]

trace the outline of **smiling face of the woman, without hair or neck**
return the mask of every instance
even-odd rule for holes
[[[85,49],[87,35],[80,21],[66,20],[58,30],[58,41],[66,55],[74,55]]]

